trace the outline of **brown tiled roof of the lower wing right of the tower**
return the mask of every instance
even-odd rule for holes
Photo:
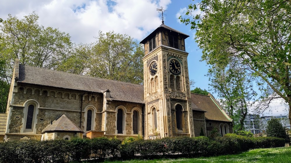
[[[206,111],[205,119],[232,122],[232,120],[226,115],[218,103],[215,103],[215,99],[212,100],[212,95],[200,95],[191,93],[191,101],[198,108]]]

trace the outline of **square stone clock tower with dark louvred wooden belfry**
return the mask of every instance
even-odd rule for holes
[[[141,41],[145,47],[145,139],[194,136],[187,37],[162,23]]]

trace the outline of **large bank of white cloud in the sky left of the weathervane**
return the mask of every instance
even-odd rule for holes
[[[0,17],[8,13],[21,19],[35,11],[39,23],[69,33],[76,43],[95,41],[99,30],[114,30],[141,40],[161,24],[156,8],[165,9],[170,0],[29,0],[0,2]]]

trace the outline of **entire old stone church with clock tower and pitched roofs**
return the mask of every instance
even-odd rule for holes
[[[162,23],[141,41],[144,85],[25,66],[16,60],[0,134],[8,141],[232,133],[232,119],[210,93],[190,93],[187,37]]]

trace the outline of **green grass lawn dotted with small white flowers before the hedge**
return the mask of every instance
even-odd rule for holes
[[[130,161],[114,161],[106,163],[290,163],[291,162],[291,147],[285,148],[266,148],[266,149],[254,149],[248,152],[244,152],[238,155],[223,155],[217,157],[200,157],[200,158],[179,158],[179,159],[159,159],[159,160],[130,160]]]

